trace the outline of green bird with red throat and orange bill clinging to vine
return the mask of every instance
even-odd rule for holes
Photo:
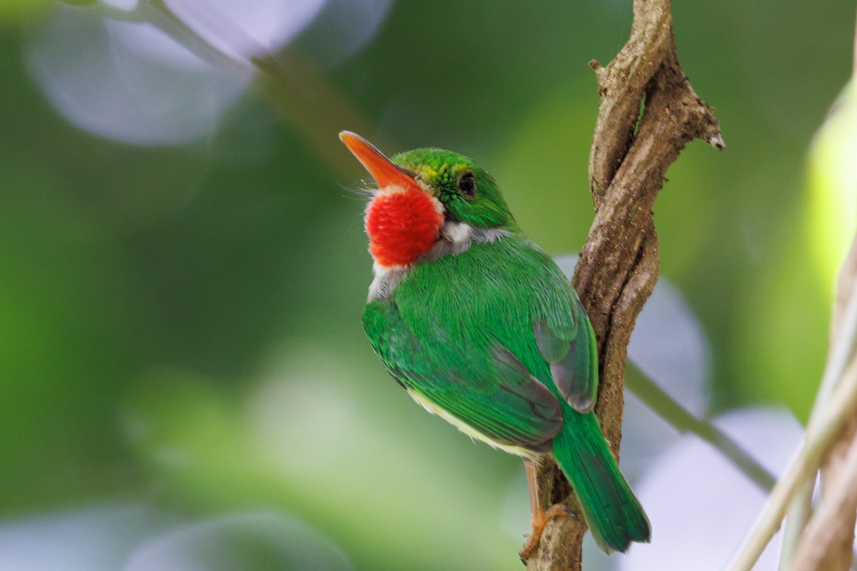
[[[648,542],[651,527],[595,413],[596,340],[574,288],[515,222],[494,178],[427,148],[386,158],[339,138],[377,189],[365,215],[375,279],[363,328],[375,354],[428,412],[524,458],[530,556],[548,520],[536,462],[553,454],[605,552]]]

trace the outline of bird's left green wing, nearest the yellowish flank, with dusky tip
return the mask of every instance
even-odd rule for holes
[[[449,331],[419,336],[390,302],[373,301],[363,326],[387,371],[424,401],[489,441],[536,452],[550,449],[562,427],[560,403],[498,342],[452,342]]]

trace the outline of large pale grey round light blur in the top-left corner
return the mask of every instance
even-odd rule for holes
[[[180,145],[214,132],[251,79],[206,62],[149,24],[57,8],[33,32],[27,68],[69,122],[135,145]]]

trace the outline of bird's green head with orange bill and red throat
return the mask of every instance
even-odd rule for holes
[[[360,135],[339,138],[378,185],[365,218],[376,267],[406,267],[473,230],[519,231],[494,177],[470,158],[434,148],[387,158]]]

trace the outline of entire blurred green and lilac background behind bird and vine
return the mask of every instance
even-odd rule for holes
[[[776,472],[854,232],[855,96],[823,125],[855,6],[673,10],[728,150],[668,172],[631,374]],[[476,158],[576,253],[587,62],[631,20],[624,0],[2,0],[0,569],[521,568],[520,461],[423,413],[363,337],[365,175],[336,134]],[[587,561],[719,568],[762,492],[628,401],[654,540]]]

